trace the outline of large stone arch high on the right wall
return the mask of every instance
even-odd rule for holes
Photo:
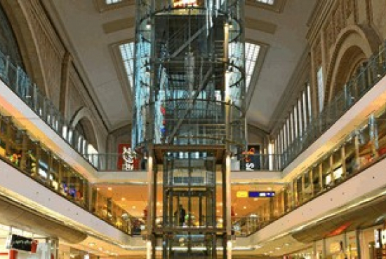
[[[327,66],[324,102],[331,102],[334,94],[347,82],[355,67],[378,51],[382,43],[378,34],[368,26],[352,25],[338,35]]]

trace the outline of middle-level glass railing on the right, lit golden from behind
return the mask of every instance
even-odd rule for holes
[[[375,162],[386,158],[386,110],[371,114],[360,127],[348,134],[324,157],[314,162],[300,175],[276,193],[264,198],[253,216],[243,219],[236,228],[243,236],[251,235],[272,221],[302,206],[306,202],[339,186],[360,174]]]

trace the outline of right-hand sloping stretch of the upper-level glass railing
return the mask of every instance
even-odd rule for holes
[[[380,46],[380,51],[368,60],[366,66],[361,67],[360,71],[342,87],[340,92],[335,94],[334,99],[326,105],[323,111],[319,113],[319,116],[313,118],[310,124],[305,127],[305,132],[286,148],[281,159],[282,168],[288,166],[300,153],[319,139],[326,130],[385,76],[385,60],[385,46]],[[340,87],[340,85],[338,86]]]

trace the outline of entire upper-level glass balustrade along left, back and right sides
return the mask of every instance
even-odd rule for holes
[[[325,107],[324,111],[319,113],[319,116],[311,120],[310,125],[305,127],[307,130],[295,139],[284,153],[277,155],[251,155],[253,158],[261,160],[254,168],[248,167],[248,163],[244,159],[239,159],[239,162],[234,164],[234,170],[273,170],[281,171],[289,163],[291,163],[302,151],[316,141],[321,134],[328,130],[333,123],[336,122],[351,106],[353,106],[368,90],[373,87],[380,78],[385,76],[386,72],[386,53],[385,48],[380,48],[378,54],[373,55],[363,66],[357,75],[355,75],[342,90],[335,94],[335,98]],[[102,171],[114,170],[114,161],[117,160],[117,155],[99,155],[98,152],[88,153],[87,141],[79,132],[76,132],[69,123],[63,118],[58,109],[53,103],[47,99],[44,94],[39,91],[32,81],[29,79],[25,71],[15,66],[10,62],[9,57],[0,52],[0,78],[10,87],[15,94],[22,99],[47,125],[49,125],[60,137],[65,139],[67,143],[78,151],[84,158],[97,169]],[[91,148],[93,149],[93,148]],[[95,150],[95,149],[93,149]],[[109,161],[112,160],[112,162]],[[271,162],[269,162],[272,160]],[[117,167],[119,170],[119,168]],[[142,167],[138,167],[142,169]]]

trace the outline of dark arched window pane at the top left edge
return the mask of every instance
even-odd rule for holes
[[[16,41],[15,34],[13,34],[13,29],[11,23],[9,22],[4,9],[0,4],[0,52],[4,56],[9,56],[11,62],[18,66],[24,68],[22,62],[22,56],[20,55],[20,50],[18,46],[18,41]]]

